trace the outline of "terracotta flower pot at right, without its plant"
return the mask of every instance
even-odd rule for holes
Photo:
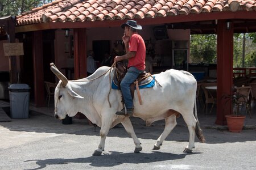
[[[229,131],[231,132],[241,132],[243,129],[243,122],[245,121],[245,116],[229,114],[226,115],[226,122],[228,124]]]

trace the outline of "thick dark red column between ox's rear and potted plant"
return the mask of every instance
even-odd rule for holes
[[[228,28],[229,25],[229,28]],[[222,99],[232,95],[233,87],[233,23],[218,20],[217,27],[217,119],[216,124],[226,125],[226,114],[233,113],[232,100]]]

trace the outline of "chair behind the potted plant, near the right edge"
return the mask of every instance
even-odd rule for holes
[[[237,96],[240,96],[236,101],[237,111],[239,109],[239,106],[245,105],[246,113],[248,112],[251,118],[252,116],[250,112],[250,100],[249,100],[249,97],[251,94],[251,86],[237,87],[236,90],[237,90],[236,91]]]

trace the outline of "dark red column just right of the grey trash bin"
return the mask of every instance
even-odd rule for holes
[[[33,32],[32,55],[34,69],[34,92],[36,107],[45,105],[44,99],[44,70],[43,70],[43,36],[42,31]]]

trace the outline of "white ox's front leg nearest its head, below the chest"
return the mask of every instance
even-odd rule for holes
[[[102,118],[104,120],[104,118]],[[112,120],[112,118],[108,118],[109,120]],[[106,141],[106,135],[109,133],[110,126],[112,125],[112,122],[104,122],[102,121],[102,126],[100,130],[101,135],[101,142],[100,145],[98,145],[98,148],[94,151],[93,156],[100,156],[102,151],[104,151],[105,148],[105,141]]]

